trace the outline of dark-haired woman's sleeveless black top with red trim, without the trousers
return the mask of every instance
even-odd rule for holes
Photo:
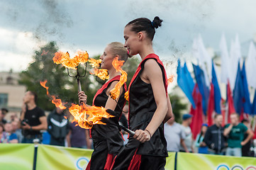
[[[145,130],[154,115],[157,104],[151,84],[145,83],[140,74],[147,60],[154,59],[162,70],[163,83],[167,94],[167,76],[162,61],[155,54],[150,54],[140,62],[129,86],[129,126],[130,130]],[[137,154],[168,157],[167,142],[164,135],[164,123],[157,128],[150,141],[140,143]]]

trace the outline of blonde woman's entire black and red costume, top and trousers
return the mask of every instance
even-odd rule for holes
[[[93,105],[105,107],[108,96],[106,89],[111,86],[113,81],[119,81],[121,76],[116,76],[104,84],[94,96]],[[116,113],[118,116],[109,118],[106,125],[96,124],[91,128],[91,137],[94,142],[94,152],[91,154],[91,160],[87,165],[87,170],[95,169],[110,169],[113,157],[118,154],[121,147],[123,147],[123,138],[117,125],[121,116],[123,106],[126,103],[124,94],[126,93],[126,84],[123,85],[123,92],[118,100],[116,106]]]

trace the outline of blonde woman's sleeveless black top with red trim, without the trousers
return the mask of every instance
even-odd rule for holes
[[[111,83],[113,81],[119,81],[120,77],[121,76],[118,75],[116,77],[113,77],[113,79],[108,80],[106,84],[104,84],[101,89],[96,92],[93,101],[94,106],[106,106],[106,101],[108,100],[108,96],[106,95],[106,89],[111,86]],[[118,116],[109,118],[106,125],[96,124],[91,128],[91,137],[93,138],[94,142],[101,142],[105,140],[108,145],[109,154],[117,153],[119,149],[123,147],[123,137],[121,136],[121,132],[116,125],[113,125],[118,123],[118,120],[121,117],[123,106],[125,106],[126,104],[126,99],[124,98],[124,94],[127,91],[126,84],[123,84],[122,88],[123,92],[118,100],[115,109],[116,113],[118,113]]]

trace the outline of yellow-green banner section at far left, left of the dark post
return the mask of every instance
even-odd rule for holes
[[[32,170],[34,145],[0,144],[0,169]]]

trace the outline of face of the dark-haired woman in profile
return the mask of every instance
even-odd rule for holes
[[[125,39],[124,47],[127,48],[130,55],[137,55],[140,50],[140,33],[130,30],[131,26],[126,26],[123,30],[123,38]]]

